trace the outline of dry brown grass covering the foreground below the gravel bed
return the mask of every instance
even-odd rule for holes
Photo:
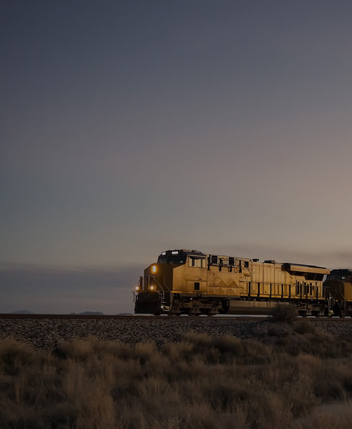
[[[352,343],[299,324],[277,339],[88,338],[50,352],[1,340],[0,428],[351,427]]]

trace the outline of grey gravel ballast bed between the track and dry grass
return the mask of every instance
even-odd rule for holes
[[[352,338],[352,320],[309,320],[317,328],[336,338]],[[216,318],[145,318],[134,319],[0,319],[0,338],[15,337],[35,348],[49,349],[61,341],[94,336],[101,340],[135,344],[155,341],[180,341],[188,332],[208,334],[213,338],[232,335],[260,339],[258,332],[270,327],[267,320]]]

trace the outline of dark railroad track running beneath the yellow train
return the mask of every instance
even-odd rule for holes
[[[206,316],[200,316],[200,317],[188,317],[188,316],[180,316],[180,317],[169,317],[169,316],[140,316],[140,315],[108,315],[108,314],[12,314],[12,313],[0,313],[0,319],[116,319],[116,320],[150,320],[150,321],[158,321],[158,320],[169,320],[169,321],[175,321],[175,320],[265,320],[268,319],[267,315],[262,316],[256,316],[253,317],[251,315],[228,315],[228,316],[214,316],[214,317],[206,317]],[[301,318],[300,318],[301,319]],[[339,317],[308,317],[305,320],[328,320],[331,322],[352,322],[351,317],[346,318],[339,318]]]

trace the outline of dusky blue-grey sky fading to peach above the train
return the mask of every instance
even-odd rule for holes
[[[352,4],[4,1],[0,312],[132,312],[163,250],[352,267]]]

